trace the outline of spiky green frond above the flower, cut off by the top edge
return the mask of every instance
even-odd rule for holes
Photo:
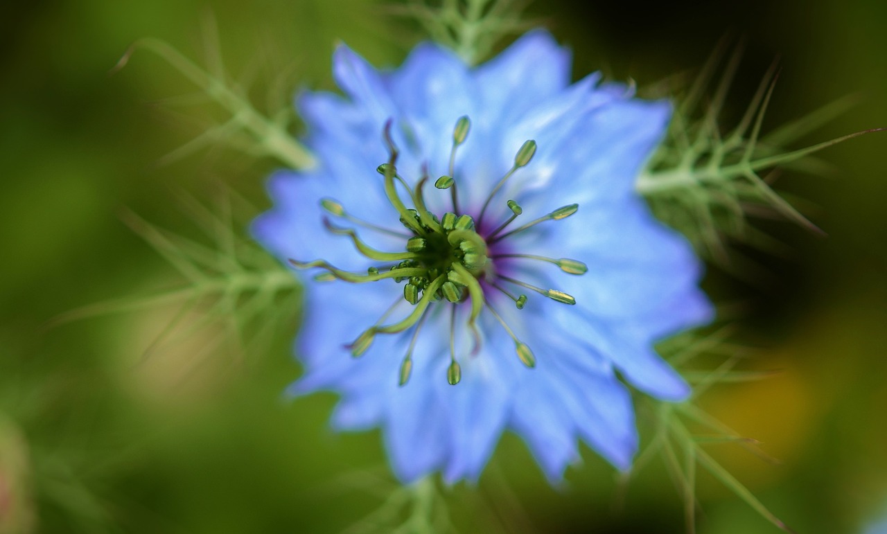
[[[418,20],[437,43],[476,65],[500,39],[530,27],[521,16],[526,4],[525,0],[409,0],[395,11]]]

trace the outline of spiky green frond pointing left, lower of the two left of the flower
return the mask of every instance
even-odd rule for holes
[[[181,342],[215,329],[223,334],[208,336],[211,342],[205,352],[224,348],[238,357],[263,353],[279,327],[294,324],[301,286],[292,272],[242,235],[235,222],[230,194],[226,192],[215,209],[181,195],[184,208],[207,243],[165,232],[136,214],[125,212],[124,222],[178,271],[184,285],[73,310],[55,322],[175,305],[177,310],[146,355],[166,343]]]

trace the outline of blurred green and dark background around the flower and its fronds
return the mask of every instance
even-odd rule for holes
[[[299,373],[290,356],[296,318],[246,357],[219,343],[214,328],[151,349],[175,312],[168,306],[49,324],[86,304],[181,283],[122,223],[126,210],[200,239],[176,200],[181,192],[213,206],[228,185],[257,208],[268,203],[263,181],[273,161],[216,146],[159,164],[222,115],[178,98],[194,88],[149,53],[109,75],[130,43],[160,37],[204,63],[208,28],[217,27],[228,72],[272,113],[299,88],[333,88],[336,40],[376,65],[403,59],[420,30],[393,17],[390,5],[0,7],[0,533],[336,532],[367,526],[361,518],[395,490],[378,433],[334,434],[326,423],[332,396],[282,397]],[[576,77],[603,69],[652,83],[694,72],[718,39],[744,35],[728,117],[742,113],[779,56],[765,130],[848,94],[860,103],[806,143],[887,126],[883,2],[641,8],[560,0],[530,4],[528,14],[573,48]],[[828,239],[765,222],[794,249],[787,258],[750,253],[768,280],[748,285],[714,269],[706,280],[718,302],[749,304],[741,338],[761,349],[748,366],[782,370],[703,398],[781,465],[729,445],[711,451],[808,534],[860,531],[887,506],[884,153],[887,134],[875,134],[822,153],[836,169],[827,176],[784,174],[778,187],[805,199],[799,206]],[[624,506],[614,480],[586,450],[585,465],[552,489],[520,441],[506,436],[479,485],[459,485],[445,502],[465,532],[684,531],[678,492],[661,467],[632,483]],[[701,532],[776,531],[713,479],[701,475],[698,494]]]

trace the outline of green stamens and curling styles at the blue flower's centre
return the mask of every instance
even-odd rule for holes
[[[318,267],[324,269],[325,272],[315,277],[318,281],[332,281],[341,279],[349,282],[373,282],[381,279],[393,279],[396,283],[404,283],[404,300],[412,305],[411,313],[404,319],[383,325],[383,321],[396,308],[398,301],[386,312],[379,321],[367,328],[357,339],[347,345],[354,357],[363,355],[377,334],[397,334],[405,332],[412,328],[412,340],[410,342],[407,354],[404,357],[400,370],[400,383],[404,385],[409,380],[412,371],[412,350],[415,347],[416,340],[420,334],[422,325],[428,318],[431,305],[436,302],[446,300],[451,302],[450,313],[450,359],[451,363],[447,370],[447,380],[455,385],[459,383],[461,369],[456,357],[455,351],[455,317],[456,304],[459,302],[470,302],[471,310],[467,319],[467,326],[471,330],[474,340],[476,354],[480,350],[481,335],[477,329],[476,320],[484,309],[490,310],[499,324],[503,326],[506,333],[514,341],[515,350],[518,357],[524,365],[533,367],[536,364],[536,358],[533,356],[530,347],[526,343],[521,342],[514,331],[506,324],[505,320],[493,308],[490,299],[487,298],[485,292],[496,290],[508,296],[514,301],[515,306],[521,310],[527,302],[526,294],[514,295],[503,287],[503,283],[530,289],[538,294],[542,294],[556,302],[565,304],[575,304],[576,300],[569,294],[557,291],[555,289],[543,289],[533,286],[522,280],[513,279],[498,273],[496,263],[506,258],[524,259],[553,263],[561,268],[561,271],[569,274],[581,275],[585,274],[587,268],[585,263],[571,260],[568,258],[554,259],[540,255],[526,254],[491,254],[491,246],[499,241],[506,240],[508,237],[529,230],[537,224],[550,220],[561,220],[577,212],[578,205],[570,204],[555,209],[553,212],[541,216],[530,223],[514,229],[507,230],[508,226],[523,213],[522,208],[514,200],[508,200],[507,206],[511,210],[512,215],[502,224],[500,224],[492,232],[481,235],[475,227],[475,219],[467,214],[459,213],[458,195],[456,192],[456,181],[453,178],[453,167],[456,155],[456,149],[465,142],[470,128],[470,122],[467,117],[462,117],[456,122],[453,130],[453,145],[450,155],[450,174],[440,177],[436,180],[435,186],[439,190],[449,189],[451,192],[452,211],[446,212],[438,218],[432,214],[426,207],[424,199],[424,187],[428,183],[427,169],[423,171],[423,176],[416,183],[414,188],[397,174],[396,160],[397,149],[390,136],[389,121],[386,124],[384,137],[389,146],[389,161],[379,166],[377,171],[384,177],[385,194],[392,206],[400,216],[400,223],[403,224],[407,233],[403,231],[394,231],[382,228],[375,224],[363,221],[355,216],[351,216],[345,208],[337,201],[332,199],[323,199],[320,204],[330,215],[346,219],[353,224],[364,226],[375,232],[384,232],[389,235],[396,235],[405,239],[404,252],[382,252],[365,244],[363,240],[357,236],[357,232],[350,228],[341,228],[332,224],[328,218],[324,218],[324,224],[329,232],[339,235],[348,236],[357,247],[358,252],[373,262],[380,262],[381,265],[370,267],[366,274],[355,273],[349,271],[341,271],[333,265],[323,260],[313,262],[299,262],[290,260],[295,267],[300,269]],[[483,217],[489,208],[491,201],[498,191],[506,184],[506,181],[514,174],[517,169],[525,167],[536,153],[536,142],[526,141],[520,150],[514,156],[514,166],[508,170],[506,175],[502,177],[497,185],[495,185],[483,203],[478,222],[483,222]],[[401,199],[397,185],[401,185],[405,189],[414,208],[407,208],[404,200]],[[483,285],[482,285],[483,282]]]

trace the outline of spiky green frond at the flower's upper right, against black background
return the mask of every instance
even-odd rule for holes
[[[762,135],[765,112],[777,78],[773,65],[741,120],[726,130],[720,116],[739,67],[741,49],[726,62],[720,81],[706,100],[704,95],[718,69],[721,51],[712,55],[693,86],[677,98],[670,128],[663,144],[641,172],[637,190],[647,198],[655,215],[683,232],[697,251],[729,267],[731,258],[726,250],[729,240],[775,254],[785,250],[779,241],[751,226],[750,216],[776,213],[820,232],[773,191],[773,169],[790,165],[799,170],[820,171],[821,166],[809,158],[812,153],[881,129],[789,150],[788,146],[797,138],[843,113],[852,104],[851,98],[844,98],[769,135]]]

